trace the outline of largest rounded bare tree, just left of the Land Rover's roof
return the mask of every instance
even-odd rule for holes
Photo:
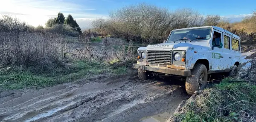
[[[112,33],[140,42],[160,39],[173,19],[166,8],[145,3],[112,11],[109,17]]]

